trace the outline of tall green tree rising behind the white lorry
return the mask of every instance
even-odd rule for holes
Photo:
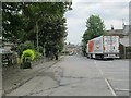
[[[86,27],[87,29],[83,34],[82,39],[82,51],[84,56],[86,54],[86,44],[88,40],[105,34],[104,21],[97,15],[91,15],[87,19]]]

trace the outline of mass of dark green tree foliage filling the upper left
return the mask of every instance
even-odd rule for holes
[[[36,47],[38,34],[38,46],[45,48],[47,54],[61,51],[67,37],[63,15],[71,10],[71,2],[3,2],[3,40],[17,45],[29,40]],[[21,56],[25,49],[19,49]]]

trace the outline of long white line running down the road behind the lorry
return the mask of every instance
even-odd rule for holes
[[[114,96],[117,96],[116,93],[115,93],[115,90],[114,90],[114,88],[112,88],[112,86],[111,86],[111,84],[109,83],[109,81],[104,77],[104,73],[103,73],[103,71],[98,68],[96,61],[94,61],[94,63],[95,63],[96,68],[98,69],[98,71],[100,72],[103,78],[105,79],[105,82],[106,82],[107,86],[109,87],[110,91],[112,93],[112,95],[114,95]]]

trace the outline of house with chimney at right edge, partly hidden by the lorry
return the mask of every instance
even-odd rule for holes
[[[123,25],[123,29],[111,29],[107,30],[107,35],[116,35],[120,37],[120,57],[131,58],[130,37],[131,37],[131,25]]]

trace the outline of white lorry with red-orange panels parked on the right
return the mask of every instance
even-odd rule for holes
[[[115,59],[119,58],[119,36],[99,36],[88,40],[87,58]]]

